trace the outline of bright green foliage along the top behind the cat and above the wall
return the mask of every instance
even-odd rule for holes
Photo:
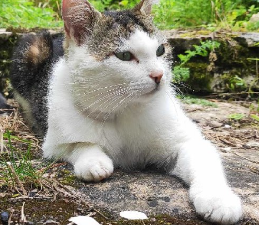
[[[99,11],[133,7],[139,0],[90,0]],[[161,29],[197,28],[259,31],[259,21],[249,22],[259,12],[259,0],[160,0],[154,7]],[[56,0],[1,0],[0,27],[62,27],[60,2]]]

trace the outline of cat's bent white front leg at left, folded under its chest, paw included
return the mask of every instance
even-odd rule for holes
[[[71,143],[59,146],[43,145],[43,156],[61,159],[74,166],[75,175],[85,181],[100,181],[113,172],[113,162],[103,149],[91,143]]]

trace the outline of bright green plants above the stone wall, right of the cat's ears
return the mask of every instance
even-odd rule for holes
[[[259,11],[258,2],[243,0],[161,0],[155,8],[155,22],[162,29],[205,27],[215,30],[256,30],[259,24],[249,22]]]

